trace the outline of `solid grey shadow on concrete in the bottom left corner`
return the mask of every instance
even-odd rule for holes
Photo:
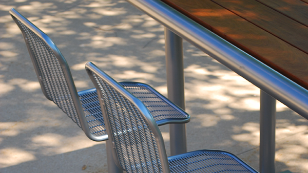
[[[87,155],[84,155],[87,153]],[[101,153],[98,155],[97,153]],[[1,169],[3,173],[10,173],[12,170],[31,170],[31,172],[95,172],[105,173],[107,162],[105,156],[105,144],[94,145],[89,148],[76,149],[73,152],[66,152],[52,156],[42,156],[35,160],[23,162]],[[74,158],[74,162],[71,161]],[[28,172],[28,171],[14,171]]]

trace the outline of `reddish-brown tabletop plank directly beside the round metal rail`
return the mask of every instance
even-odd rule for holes
[[[302,85],[302,87],[308,89],[308,54],[306,54],[305,52],[299,50],[291,44],[288,44],[288,42],[275,36],[275,34],[273,35],[272,33],[269,33],[268,31],[262,29],[256,24],[253,24],[251,21],[248,21],[245,18],[239,16],[240,14],[235,14],[234,12],[222,7],[221,5],[213,1],[162,1],[182,12],[191,19],[195,20],[197,23],[201,24],[205,28],[218,34],[219,36],[226,39],[227,41],[242,49],[243,51],[247,52],[248,54],[251,54],[255,58],[261,60],[269,67],[272,67],[276,71],[280,72],[281,74],[285,75],[296,83]],[[234,0],[234,2],[241,1]],[[261,9],[266,7],[261,3],[258,4],[260,6],[263,6],[260,7]],[[275,13],[273,11],[271,12],[269,10],[269,12],[267,13]],[[251,12],[249,14],[249,11],[246,11],[245,15],[251,15],[251,18],[255,17],[255,20],[260,20],[260,23],[266,23],[268,25],[266,27],[271,26],[271,22],[267,21],[268,19],[262,21],[264,19],[260,18],[256,12]],[[270,18],[271,16],[263,17]],[[279,22],[276,21],[276,23]],[[306,26],[303,27],[306,28]],[[272,30],[272,32],[274,32],[273,27]],[[281,32],[280,30],[278,31]],[[306,30],[304,30],[303,32],[306,32]],[[303,35],[306,34],[307,33],[304,33]],[[289,36],[290,35],[292,35],[292,33],[289,33]],[[292,38],[292,41],[304,42],[300,40],[302,38],[298,39],[299,40],[294,40]]]

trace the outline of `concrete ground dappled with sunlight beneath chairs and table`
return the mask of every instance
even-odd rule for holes
[[[92,61],[117,81],[166,95],[163,26],[124,0],[0,2],[0,172],[107,172],[105,142],[89,140],[40,89],[14,7],[47,33],[78,90]],[[260,91],[184,41],[188,151],[222,149],[259,169]],[[168,125],[161,127],[169,155]],[[308,121],[277,103],[276,172],[308,172]]]

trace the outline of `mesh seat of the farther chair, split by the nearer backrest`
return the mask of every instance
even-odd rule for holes
[[[149,85],[138,82],[119,82],[139,98],[158,125],[189,122],[189,115]],[[107,135],[98,94],[95,88],[78,92],[90,128],[95,136]]]

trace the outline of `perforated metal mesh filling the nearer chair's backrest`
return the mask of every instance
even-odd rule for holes
[[[162,172],[155,136],[137,107],[93,76],[103,94],[121,167],[127,172]]]

